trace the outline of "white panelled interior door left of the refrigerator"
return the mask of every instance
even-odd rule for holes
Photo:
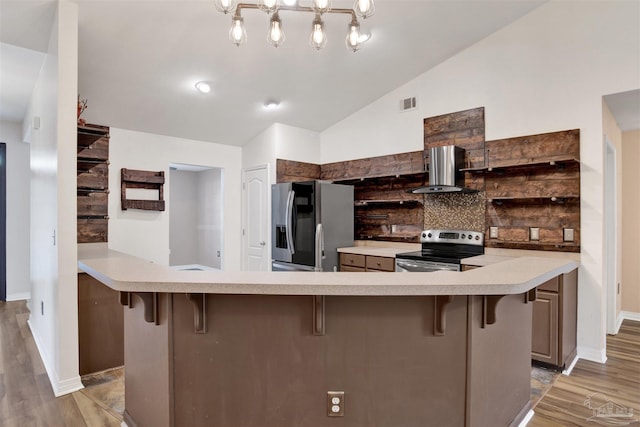
[[[243,171],[244,215],[242,236],[245,271],[269,271],[271,265],[269,171],[267,166]]]

